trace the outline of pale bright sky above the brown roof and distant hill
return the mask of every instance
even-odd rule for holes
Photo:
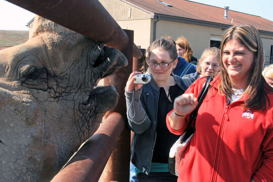
[[[220,8],[229,6],[230,10],[261,16],[273,21],[272,0],[196,0],[194,2]],[[23,8],[0,0],[0,30],[28,30],[25,25],[34,16],[35,14]]]

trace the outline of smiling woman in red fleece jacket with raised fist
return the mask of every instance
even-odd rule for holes
[[[273,181],[273,90],[262,77],[261,38],[251,25],[225,31],[220,75],[198,110],[177,181]],[[206,78],[174,100],[168,129],[182,134]]]

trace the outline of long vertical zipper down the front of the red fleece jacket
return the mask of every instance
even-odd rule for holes
[[[217,169],[218,169],[218,162],[219,162],[220,146],[222,144],[221,134],[222,134],[222,129],[223,129],[223,124],[225,122],[225,118],[226,118],[226,120],[229,120],[229,117],[228,117],[229,108],[230,108],[229,106],[225,107],[225,110],[224,110],[223,115],[222,115],[222,120],[221,120],[221,123],[220,123],[220,126],[219,126],[219,135],[218,135],[218,141],[217,141],[217,146],[216,146],[216,154],[215,154],[215,161],[214,161],[211,181],[216,181],[216,178],[217,178]]]

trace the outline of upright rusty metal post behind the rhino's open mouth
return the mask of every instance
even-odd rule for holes
[[[128,59],[128,66],[125,68],[121,68],[117,73],[110,75],[104,79],[104,85],[115,86],[119,94],[119,101],[117,106],[113,110],[110,110],[108,113],[106,113],[105,117],[107,117],[107,115],[109,115],[111,112],[118,112],[124,117],[124,120],[127,122],[124,87],[126,85],[127,78],[129,77],[132,71],[133,31],[132,30],[124,31],[127,33],[129,37],[129,43],[127,44],[126,49],[121,50],[121,52]],[[104,172],[101,177],[102,181],[103,182],[129,181],[129,162],[130,131],[127,127],[125,127],[104,169]]]

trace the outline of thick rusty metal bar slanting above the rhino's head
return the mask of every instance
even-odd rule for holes
[[[127,34],[99,1],[7,1],[110,47],[122,50],[127,46]],[[133,50],[134,57],[142,57],[136,45]]]

